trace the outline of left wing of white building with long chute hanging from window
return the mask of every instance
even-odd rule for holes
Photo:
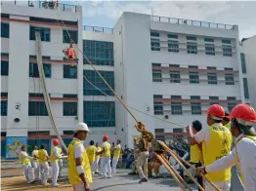
[[[78,53],[75,66],[64,59],[63,50],[70,42],[65,29],[82,50],[82,8],[59,4],[57,11],[42,2],[33,7],[3,2],[1,8],[2,151],[13,136],[26,136],[28,150],[36,143],[49,150],[55,132],[39,80],[35,30],[41,32],[46,86],[57,128],[60,134],[70,134],[74,124],[83,121],[83,59]]]

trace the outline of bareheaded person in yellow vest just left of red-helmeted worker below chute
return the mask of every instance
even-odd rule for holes
[[[45,145],[42,144],[40,147],[40,150],[38,151],[38,160],[39,160],[39,169],[41,173],[41,183],[43,185],[49,185],[47,183],[48,176],[49,176],[49,155],[47,151],[45,150]]]

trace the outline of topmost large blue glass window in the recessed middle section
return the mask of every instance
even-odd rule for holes
[[[113,65],[113,43],[83,40],[83,53],[95,65]],[[89,64],[84,58],[84,64]]]

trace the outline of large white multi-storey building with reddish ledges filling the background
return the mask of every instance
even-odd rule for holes
[[[2,140],[23,135],[35,142],[39,134],[47,142],[43,138],[55,135],[35,67],[32,34],[39,27],[47,89],[60,134],[68,138],[64,141],[70,140],[75,123],[85,121],[92,130],[88,140],[101,141],[108,134],[110,141],[120,138],[131,147],[139,135],[135,120],[80,53],[77,68],[64,60],[69,39],[57,21],[58,12],[36,6],[2,8]],[[236,25],[124,13],[109,29],[82,27],[81,7],[60,13],[80,50],[129,106],[166,121],[188,125],[197,119],[206,125],[203,112],[210,104],[231,109],[247,101]],[[157,138],[184,133],[181,127],[132,111]],[[21,121],[14,122],[16,118]]]

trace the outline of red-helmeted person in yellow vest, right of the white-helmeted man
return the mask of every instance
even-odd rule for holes
[[[103,177],[108,177],[110,178],[111,175],[111,166],[110,166],[110,157],[111,157],[111,145],[109,142],[107,142],[108,136],[104,135],[103,137],[103,145],[102,145],[102,150],[98,151],[97,154],[102,154],[101,158],[101,172]],[[107,175],[108,173],[108,175]]]

